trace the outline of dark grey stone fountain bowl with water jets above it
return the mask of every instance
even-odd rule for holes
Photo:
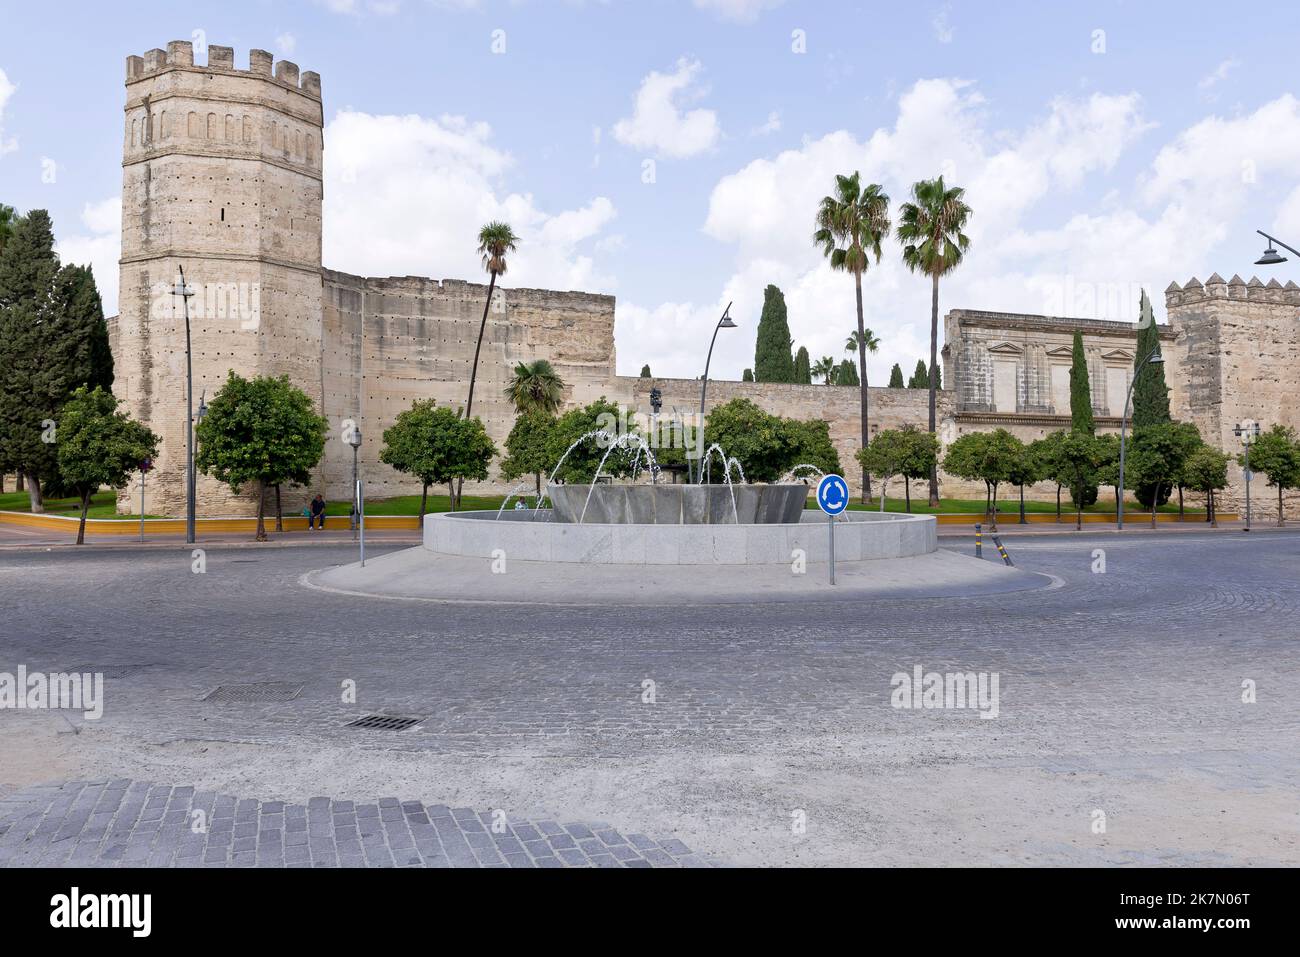
[[[586,525],[793,524],[809,495],[803,482],[732,488],[734,508],[727,485],[551,485],[547,495],[555,521]]]

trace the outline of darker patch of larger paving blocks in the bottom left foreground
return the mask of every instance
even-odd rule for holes
[[[0,867],[710,865],[676,839],[395,797],[300,805],[122,779],[32,788],[4,804]]]

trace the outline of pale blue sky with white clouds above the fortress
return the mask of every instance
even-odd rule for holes
[[[819,0],[0,0],[0,203],[49,209],[117,308],[125,57],[191,39],[321,74],[324,263],[616,298],[620,373],[754,364],[763,289],[796,347],[848,355],[852,277],[811,242],[835,176],[962,186],[940,309],[1157,317],[1171,282],[1300,247],[1287,4]],[[196,61],[204,62],[203,52]],[[868,378],[928,354],[930,285],[889,238],[863,277]]]

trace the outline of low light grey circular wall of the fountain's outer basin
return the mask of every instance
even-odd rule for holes
[[[729,498],[727,505],[729,508]],[[499,519],[491,511],[436,512],[424,516],[424,547],[441,555],[615,566],[790,566],[801,558],[829,558],[827,516],[811,510],[801,510],[794,521],[784,524],[575,524],[554,519],[549,508],[507,510]],[[910,558],[937,549],[932,515],[854,511],[835,523],[836,562]]]

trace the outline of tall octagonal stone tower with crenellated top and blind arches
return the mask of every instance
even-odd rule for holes
[[[126,59],[120,316],[110,328],[114,390],[162,437],[147,482],[153,514],[185,512],[185,317],[190,299],[194,404],[226,372],[287,374],[317,407],[321,380],[320,77],[254,49],[172,42]],[[126,489],[120,506],[138,507]],[[126,497],[133,497],[126,502]],[[200,514],[239,514],[199,476]]]

